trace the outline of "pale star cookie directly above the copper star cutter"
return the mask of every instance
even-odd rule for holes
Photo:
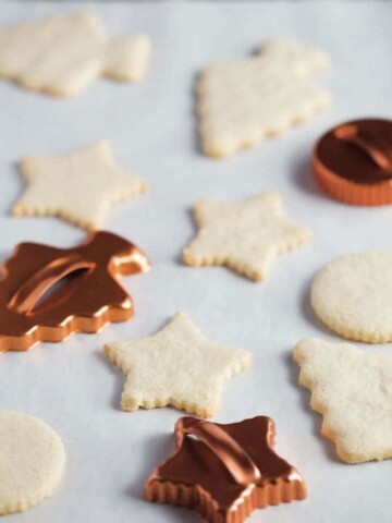
[[[105,352],[126,375],[124,411],[172,405],[204,417],[219,410],[224,381],[252,362],[249,352],[208,341],[183,313],[157,335]]]

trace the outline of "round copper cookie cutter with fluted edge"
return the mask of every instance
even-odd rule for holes
[[[354,205],[392,203],[392,121],[335,126],[317,143],[314,173],[333,198]]]

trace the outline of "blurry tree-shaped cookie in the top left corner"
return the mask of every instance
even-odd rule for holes
[[[76,96],[99,76],[137,82],[150,56],[146,36],[110,40],[91,13],[0,28],[0,76],[58,96]]]

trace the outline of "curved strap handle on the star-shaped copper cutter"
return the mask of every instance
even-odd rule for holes
[[[261,478],[260,471],[245,450],[218,425],[186,416],[176,423],[175,435],[177,447],[185,435],[195,436],[207,445],[238,485],[248,486]]]

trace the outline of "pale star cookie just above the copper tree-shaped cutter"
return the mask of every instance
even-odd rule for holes
[[[147,185],[115,165],[110,143],[95,142],[68,156],[23,158],[27,188],[16,216],[59,216],[85,229],[99,229],[109,208]]]

